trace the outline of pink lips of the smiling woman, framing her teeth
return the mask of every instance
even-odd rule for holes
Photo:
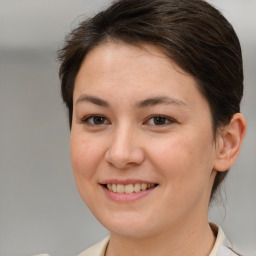
[[[144,191],[139,191],[139,192],[134,192],[134,193],[130,193],[130,194],[126,194],[126,193],[115,193],[112,192],[110,190],[108,190],[105,185],[106,184],[123,184],[123,185],[128,185],[128,184],[152,184],[154,182],[149,182],[149,181],[143,181],[143,180],[134,180],[134,179],[127,179],[127,180],[118,180],[118,179],[111,179],[111,180],[104,180],[103,182],[100,182],[100,186],[102,188],[102,190],[104,191],[105,195],[107,196],[108,199],[110,199],[111,201],[114,202],[119,202],[119,203],[127,203],[127,202],[134,202],[137,201],[139,199],[142,199],[148,195],[150,195],[151,193],[154,192],[154,190],[158,187],[153,187]],[[154,183],[157,184],[157,183]]]

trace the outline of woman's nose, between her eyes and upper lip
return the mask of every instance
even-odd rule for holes
[[[140,165],[144,161],[144,151],[138,134],[131,127],[119,127],[111,137],[105,160],[118,169]]]

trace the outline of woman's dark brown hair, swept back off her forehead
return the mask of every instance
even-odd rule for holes
[[[203,0],[119,0],[83,21],[59,50],[63,100],[72,124],[76,75],[86,54],[105,41],[154,44],[197,81],[208,100],[214,136],[240,111],[241,47],[231,24]],[[227,172],[217,172],[211,199]]]

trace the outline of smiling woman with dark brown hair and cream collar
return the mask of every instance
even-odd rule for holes
[[[202,0],[120,0],[59,52],[74,177],[110,232],[81,254],[239,255],[208,205],[246,123],[228,21]]]

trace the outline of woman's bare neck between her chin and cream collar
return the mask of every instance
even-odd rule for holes
[[[129,238],[110,234],[106,256],[208,256],[214,246],[215,236],[206,222],[173,227],[171,230],[146,238]]]

